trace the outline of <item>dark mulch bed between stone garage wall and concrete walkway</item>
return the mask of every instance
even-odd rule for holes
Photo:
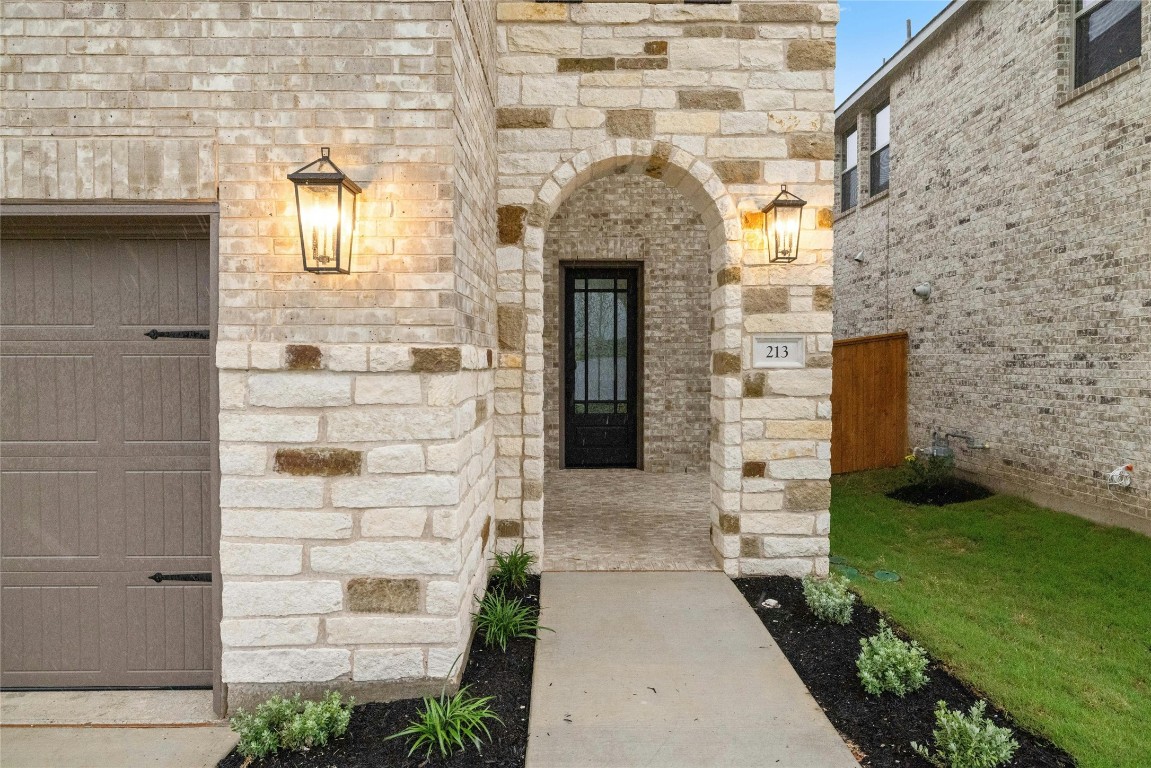
[[[540,604],[540,577],[532,577],[525,602]],[[403,739],[387,742],[389,736],[403,730],[416,718],[419,699],[389,704],[358,705],[348,732],[328,746],[308,752],[281,752],[251,768],[523,768],[527,750],[527,714],[532,699],[532,666],[535,661],[534,640],[512,640],[506,653],[485,648],[477,636],[464,670],[464,685],[471,685],[473,695],[494,695],[491,708],[503,725],[490,723],[491,744],[478,753],[468,746],[447,760],[434,753],[430,760],[425,752],[407,756]],[[231,752],[218,768],[239,768],[244,759]]]

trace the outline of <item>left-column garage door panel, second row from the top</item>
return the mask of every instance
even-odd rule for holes
[[[7,350],[6,350],[7,351]],[[0,439],[20,442],[96,440],[92,355],[0,356]]]

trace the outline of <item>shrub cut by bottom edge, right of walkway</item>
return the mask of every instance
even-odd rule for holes
[[[986,701],[971,705],[963,714],[947,708],[946,701],[936,704],[936,728],[932,753],[922,744],[912,742],[912,748],[938,768],[996,768],[1007,765],[1019,743],[1009,728],[1000,728],[984,716]]]

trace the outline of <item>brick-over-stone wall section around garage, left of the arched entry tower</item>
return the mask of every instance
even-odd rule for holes
[[[231,706],[437,691],[466,647],[496,200],[495,12],[464,5],[3,5],[5,198],[219,201]],[[321,145],[365,189],[350,275],[299,266],[285,175]]]

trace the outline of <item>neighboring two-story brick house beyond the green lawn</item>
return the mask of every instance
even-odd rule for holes
[[[834,334],[909,334],[912,444],[1151,533],[1151,7],[952,2],[836,134]]]

